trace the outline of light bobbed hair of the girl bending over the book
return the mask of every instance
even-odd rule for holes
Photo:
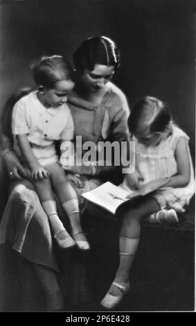
[[[152,110],[150,132],[164,132],[172,123],[172,114],[168,105],[159,98],[145,96],[132,107],[128,118],[127,124],[132,135],[137,131],[144,110]]]

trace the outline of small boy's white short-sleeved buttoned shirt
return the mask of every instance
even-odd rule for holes
[[[27,134],[30,143],[48,146],[57,139],[73,139],[73,119],[68,105],[59,108],[44,108],[37,92],[21,98],[12,114],[12,134]]]

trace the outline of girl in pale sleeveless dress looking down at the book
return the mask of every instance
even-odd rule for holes
[[[134,204],[129,200],[119,211],[123,216],[120,264],[101,302],[107,309],[121,302],[130,289],[130,268],[139,245],[142,219],[150,215],[151,221],[177,221],[176,212],[184,212],[184,205],[195,191],[188,136],[172,123],[165,103],[150,96],[143,98],[132,108],[128,127],[136,145],[136,171],[125,175],[122,187],[137,189],[143,195],[138,189],[144,184],[145,191],[155,180],[165,181],[166,185]]]

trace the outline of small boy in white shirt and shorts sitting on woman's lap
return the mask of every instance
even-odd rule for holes
[[[87,250],[89,243],[80,225],[77,194],[58,162],[54,144],[60,139],[63,153],[73,139],[73,119],[66,105],[74,86],[73,69],[62,56],[53,55],[33,62],[32,70],[37,91],[22,97],[13,108],[15,151],[34,182],[57,244],[69,248],[76,243]],[[73,238],[57,215],[52,187],[69,216]]]

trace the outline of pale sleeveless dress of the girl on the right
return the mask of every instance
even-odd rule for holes
[[[154,147],[147,147],[139,143],[134,137],[136,142],[136,157],[137,166],[143,176],[142,184],[152,180],[159,180],[168,178],[177,173],[177,162],[175,160],[175,150],[179,139],[186,139],[187,143],[189,137],[186,133],[178,128],[172,126],[173,132],[170,137],[161,141],[161,143]],[[190,157],[190,150],[188,148],[188,155]],[[126,190],[127,182],[126,175],[121,185]],[[176,212],[184,212],[184,206],[188,205],[190,198],[195,193],[195,179],[193,172],[193,162],[190,157],[190,180],[186,187],[171,188],[164,187],[150,194],[151,197],[157,200],[160,208],[175,209]]]

